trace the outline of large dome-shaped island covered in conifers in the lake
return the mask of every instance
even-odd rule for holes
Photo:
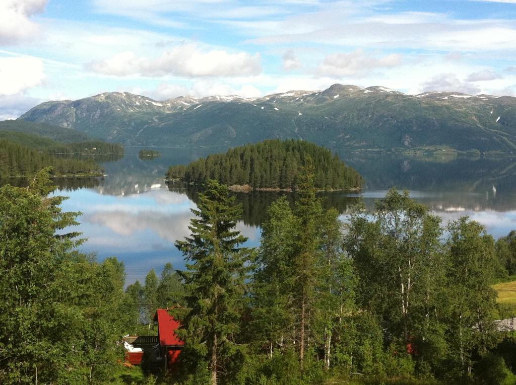
[[[234,147],[187,165],[170,166],[167,178],[203,185],[208,179],[232,190],[296,190],[308,159],[315,167],[317,190],[358,190],[362,176],[325,147],[303,140],[266,140]]]

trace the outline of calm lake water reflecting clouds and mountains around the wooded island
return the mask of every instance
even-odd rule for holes
[[[172,262],[184,267],[174,241],[188,233],[196,192],[181,185],[167,186],[163,177],[171,164],[187,163],[213,149],[160,148],[162,157],[140,160],[139,147],[126,147],[123,159],[104,163],[107,176],[61,182],[59,194],[70,197],[63,208],[80,211],[79,230],[88,238],[81,249],[99,259],[124,261],[127,281],[142,279],[154,268]],[[360,198],[368,208],[392,186],[410,190],[446,223],[462,215],[485,225],[495,238],[516,229],[516,158],[431,158],[394,155],[341,157],[366,179],[361,194],[325,194],[326,205],[346,212]],[[238,194],[244,218],[238,229],[255,245],[267,206],[279,194]],[[291,199],[295,197],[288,195]]]

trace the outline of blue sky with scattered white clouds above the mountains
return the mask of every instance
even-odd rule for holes
[[[0,120],[333,83],[516,96],[516,0],[0,0]]]

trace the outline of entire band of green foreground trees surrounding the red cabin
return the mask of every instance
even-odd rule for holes
[[[128,286],[115,257],[76,250],[78,213],[50,194],[49,170],[0,188],[0,383],[516,383],[492,288],[513,272],[514,233],[443,224],[396,189],[343,223],[315,170],[307,157],[297,199],[268,207],[256,247],[236,229],[235,195],[207,180],[175,243],[186,269]],[[122,336],[156,333],[157,308],[182,324],[171,373],[123,364]]]

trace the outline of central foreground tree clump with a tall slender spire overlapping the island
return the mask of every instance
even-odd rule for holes
[[[341,247],[338,213],[322,209],[315,197],[310,158],[299,180],[295,207],[284,197],[278,199],[263,225],[248,338],[269,360],[296,351],[299,378],[320,382],[326,376],[322,373],[334,366],[333,357],[347,363],[342,341],[349,334],[345,320],[353,309],[355,282]],[[278,378],[276,373],[267,381]]]

